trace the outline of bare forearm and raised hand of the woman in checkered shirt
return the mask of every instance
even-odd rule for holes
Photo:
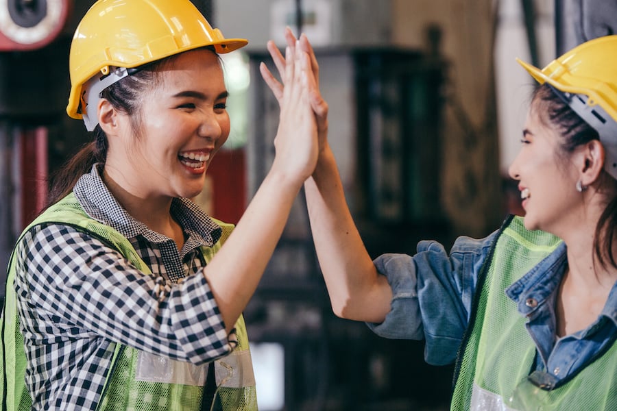
[[[252,297],[298,192],[317,165],[317,123],[309,101],[315,77],[309,54],[287,47],[284,67],[274,162],[225,245],[204,268],[228,331]]]

